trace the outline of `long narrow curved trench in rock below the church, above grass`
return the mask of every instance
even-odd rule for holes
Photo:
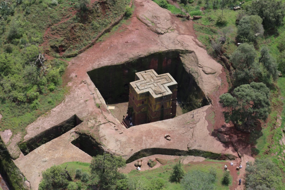
[[[140,158],[152,156],[155,154],[163,154],[170,156],[201,156],[212,160],[234,160],[235,158],[237,158],[236,156],[233,156],[231,154],[218,154],[197,149],[189,149],[187,151],[171,148],[146,148],[133,154],[129,159],[127,159],[126,163],[128,164]]]

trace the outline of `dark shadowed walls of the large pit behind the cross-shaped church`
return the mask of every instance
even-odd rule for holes
[[[135,73],[154,69],[156,73],[170,73],[178,83],[177,100],[183,113],[208,105],[205,94],[188,73],[180,54],[192,53],[182,50],[157,52],[125,63],[104,66],[88,71],[90,79],[100,91],[106,104],[129,101],[129,83],[135,80]]]

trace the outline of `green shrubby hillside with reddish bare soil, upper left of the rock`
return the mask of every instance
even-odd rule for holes
[[[1,130],[25,135],[25,127],[68,92],[61,79],[66,62],[44,54],[77,52],[119,15],[130,16],[129,2],[0,1]]]

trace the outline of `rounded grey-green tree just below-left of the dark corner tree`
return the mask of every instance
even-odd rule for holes
[[[244,16],[237,26],[237,36],[241,42],[256,42],[256,38],[263,33],[262,19],[257,15]]]

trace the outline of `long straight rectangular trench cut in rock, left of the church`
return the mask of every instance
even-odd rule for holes
[[[69,130],[76,127],[80,123],[82,123],[82,120],[80,120],[77,117],[77,115],[73,115],[72,117],[65,120],[64,122],[61,122],[60,124],[41,132],[35,137],[25,142],[20,143],[18,146],[20,150],[22,151],[22,153],[26,156],[27,154],[29,154],[36,148],[61,136],[62,134],[68,132]]]

